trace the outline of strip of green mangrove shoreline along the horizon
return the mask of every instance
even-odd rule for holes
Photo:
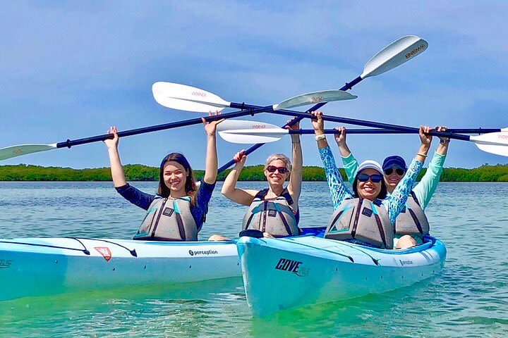
[[[159,168],[146,165],[124,165],[128,181],[157,181]],[[425,168],[420,177],[425,174]],[[340,169],[345,179],[344,170]],[[194,170],[196,179],[200,180],[204,171]],[[219,174],[217,180],[222,181],[229,173],[226,170]],[[418,180],[420,179],[418,177]],[[262,165],[252,165],[243,168],[241,181],[262,181]],[[304,181],[325,181],[325,170],[317,166],[303,168]],[[482,165],[478,168],[444,168],[441,175],[442,182],[508,182],[508,165]],[[73,169],[60,167],[42,167],[37,165],[0,165],[0,181],[111,181],[109,168]]]

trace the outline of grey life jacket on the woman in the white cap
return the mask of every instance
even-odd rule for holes
[[[346,199],[329,220],[325,238],[356,239],[382,249],[393,249],[394,227],[381,200]]]

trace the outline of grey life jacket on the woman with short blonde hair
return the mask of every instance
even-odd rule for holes
[[[298,235],[299,211],[295,213],[291,208],[293,199],[287,189],[275,199],[265,200],[267,193],[268,189],[263,189],[254,197],[246,215],[243,216],[243,230],[268,232],[273,237]]]

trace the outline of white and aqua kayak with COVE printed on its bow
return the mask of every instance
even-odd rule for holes
[[[315,236],[241,237],[236,245],[248,305],[258,316],[406,287],[440,272],[446,258],[433,237],[404,250]]]

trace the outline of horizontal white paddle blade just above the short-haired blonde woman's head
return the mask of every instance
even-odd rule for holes
[[[225,120],[217,125],[217,132],[227,142],[254,144],[278,141],[288,130],[270,123],[248,120]]]

